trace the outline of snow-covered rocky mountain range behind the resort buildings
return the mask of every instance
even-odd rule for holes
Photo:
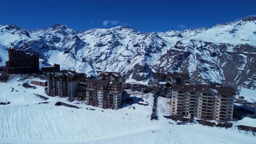
[[[256,17],[212,28],[141,33],[126,26],[89,29],[65,25],[29,30],[0,25],[0,64],[7,48],[40,55],[40,65],[58,63],[88,76],[115,71],[126,82],[151,82],[153,72],[189,72],[198,83],[256,89]]]

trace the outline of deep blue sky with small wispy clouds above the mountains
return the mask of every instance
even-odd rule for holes
[[[256,0],[4,0],[0,24],[85,31],[126,25],[142,32],[211,27],[256,14]]]

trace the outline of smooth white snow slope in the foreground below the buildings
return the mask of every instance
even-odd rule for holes
[[[128,105],[118,110],[102,109],[90,105],[74,104],[67,98],[49,97],[44,88],[27,89],[15,80],[0,83],[0,144],[241,144],[256,142],[251,133],[236,128],[210,128],[200,124],[175,125],[163,115],[170,115],[168,98],[158,98],[159,120],[151,121],[152,94],[131,93],[131,98],[141,97],[149,105]],[[14,91],[12,91],[14,88]],[[16,92],[16,90],[18,92]],[[44,95],[49,104],[38,104]],[[81,107],[80,109],[55,106],[57,101]],[[132,108],[132,107],[135,107]],[[93,108],[91,111],[86,108]],[[244,119],[246,122],[248,119]],[[169,122],[169,123],[168,123]],[[244,121],[238,121],[237,124]],[[255,123],[254,123],[255,124]],[[253,124],[251,124],[253,125]]]

